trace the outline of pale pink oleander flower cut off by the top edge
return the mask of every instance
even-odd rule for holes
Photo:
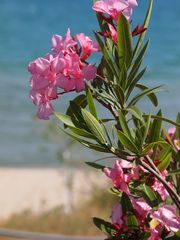
[[[93,10],[108,14],[117,21],[121,13],[129,19],[132,15],[132,9],[137,6],[136,0],[102,0],[93,5]]]

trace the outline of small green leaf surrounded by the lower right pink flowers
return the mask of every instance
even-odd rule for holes
[[[145,195],[142,196],[145,199],[145,201],[151,207],[156,207],[158,205],[158,198],[156,193],[153,190],[151,190],[151,188],[146,184],[142,185],[142,191],[145,193]]]

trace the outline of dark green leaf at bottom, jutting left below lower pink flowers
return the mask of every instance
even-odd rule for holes
[[[113,237],[116,233],[116,229],[113,224],[104,221],[100,218],[93,218],[93,222],[97,228],[99,228],[104,234]]]

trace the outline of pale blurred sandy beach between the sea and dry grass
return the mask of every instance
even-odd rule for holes
[[[107,184],[96,170],[0,168],[0,219],[31,210],[42,213],[62,206],[65,212],[87,200],[95,186]]]

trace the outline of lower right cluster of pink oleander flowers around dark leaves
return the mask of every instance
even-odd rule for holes
[[[116,190],[121,194],[127,194],[133,208],[133,214],[138,221],[139,231],[143,229],[150,236],[148,240],[160,240],[163,229],[167,232],[177,232],[180,228],[180,217],[176,215],[176,208],[171,205],[162,204],[158,210],[154,210],[141,196],[135,196],[130,187],[131,183],[140,180],[140,171],[145,171],[142,167],[134,167],[131,162],[125,160],[116,160],[113,168],[104,168],[106,176],[112,179]],[[148,173],[146,171],[146,173]],[[163,170],[162,175],[167,176],[167,171]],[[153,176],[151,176],[153,178]],[[163,184],[156,178],[149,184],[152,190],[159,193],[162,200],[165,201],[168,193]],[[111,220],[116,227],[117,233],[122,235],[128,232],[127,214],[122,209],[122,204],[119,203],[113,206]],[[150,225],[147,223],[147,218],[151,218]]]

